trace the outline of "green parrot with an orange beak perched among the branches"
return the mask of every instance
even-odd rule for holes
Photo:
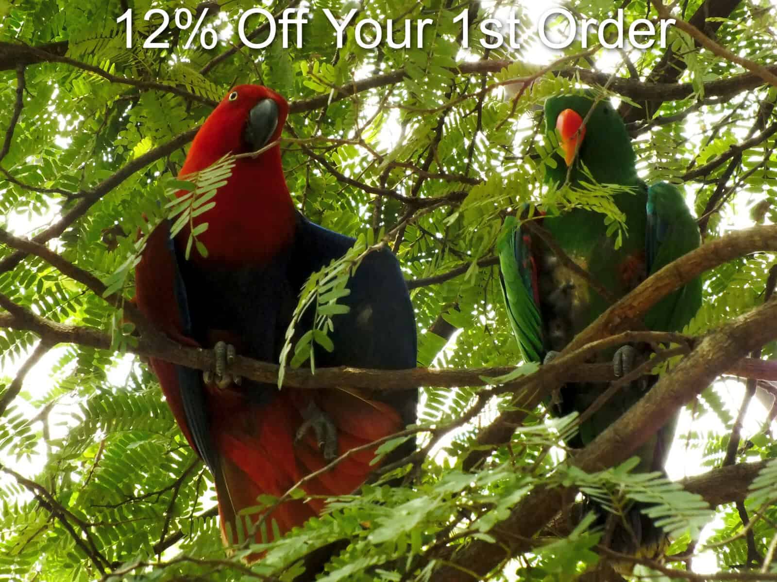
[[[622,119],[606,100],[590,111],[592,105],[591,93],[559,95],[545,102],[546,132],[557,132],[564,152],[563,157],[553,154],[556,166],[547,166],[545,181],[561,185],[569,173],[573,187],[591,182],[584,165],[599,184],[625,187],[613,196],[625,215],[625,236],[621,246],[615,248],[615,238],[607,234],[605,217],[584,208],[538,219],[559,248],[601,284],[608,294],[605,297],[587,278],[563,265],[539,237],[521,228],[514,217],[507,217],[497,241],[500,280],[510,325],[528,362],[548,361],[601,315],[611,300],[629,293],[646,275],[700,244],[699,228],[681,192],[665,182],[648,187],[640,180]],[[681,331],[699,310],[701,297],[701,281],[694,279],[653,306],[644,318],[646,328]],[[635,347],[623,346],[598,355],[596,361],[613,362],[615,374],[620,376],[629,371],[637,354]],[[654,379],[624,386],[581,424],[567,445],[587,445],[639,400],[652,383]],[[557,415],[582,413],[607,388],[607,383],[567,383],[554,394],[551,411]],[[677,415],[636,451],[640,459],[636,470],[663,470],[676,420]],[[603,524],[605,511],[596,504],[593,507]],[[664,551],[666,537],[639,509],[633,506],[625,520],[615,526],[610,546],[623,553],[657,556]]]

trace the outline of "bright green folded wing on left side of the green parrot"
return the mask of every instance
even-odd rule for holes
[[[504,220],[497,241],[500,282],[510,327],[527,362],[542,362],[542,317],[535,303],[535,274],[532,272],[531,248],[524,244],[515,217]]]

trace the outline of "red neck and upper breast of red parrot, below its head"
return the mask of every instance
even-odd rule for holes
[[[184,170],[194,170],[187,165],[182,175]],[[280,147],[260,158],[236,161],[228,182],[213,200],[216,205],[194,219],[195,226],[207,222],[207,230],[197,236],[207,249],[207,258],[192,248],[190,258],[194,262],[263,265],[291,244],[296,217],[280,164]],[[179,248],[186,247],[189,235],[190,227],[186,225],[176,239]]]

